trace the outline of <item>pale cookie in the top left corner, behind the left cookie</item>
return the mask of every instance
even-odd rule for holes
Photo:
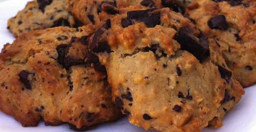
[[[18,37],[29,30],[56,26],[73,27],[74,24],[69,0],[33,0],[8,20],[7,29],[14,37]]]

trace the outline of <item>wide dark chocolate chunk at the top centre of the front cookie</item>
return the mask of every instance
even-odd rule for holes
[[[150,8],[148,10],[129,11],[129,12],[127,12],[127,18],[130,20],[131,19],[141,20],[141,21],[145,22],[145,24],[149,28],[153,28],[156,25],[159,25],[161,22],[160,12],[154,12],[155,10],[158,10],[158,8]]]

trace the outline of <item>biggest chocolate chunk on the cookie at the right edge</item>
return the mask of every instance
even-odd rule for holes
[[[219,16],[210,18],[207,24],[211,29],[226,30],[228,28],[228,24],[224,15],[219,15]]]

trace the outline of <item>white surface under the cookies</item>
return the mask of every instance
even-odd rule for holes
[[[8,0],[0,2],[0,49],[6,43],[12,43],[15,38],[7,30],[7,20],[22,10],[28,0]],[[220,128],[204,128],[202,132],[256,132],[256,85],[245,89],[246,94],[223,119]],[[67,123],[60,126],[44,126],[41,120],[36,127],[24,128],[12,116],[0,112],[0,132],[74,132]],[[87,132],[146,132],[144,128],[129,123],[127,117],[117,122],[98,125]],[[148,130],[147,132],[157,132]]]

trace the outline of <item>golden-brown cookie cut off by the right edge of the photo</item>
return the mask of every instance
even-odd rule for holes
[[[255,0],[195,0],[185,16],[218,43],[227,66],[243,87],[256,82]]]

